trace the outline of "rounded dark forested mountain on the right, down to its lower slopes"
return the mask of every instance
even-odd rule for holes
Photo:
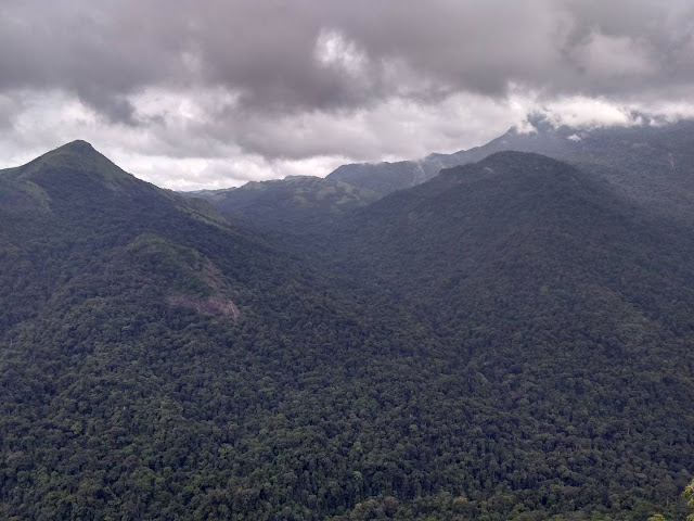
[[[432,374],[429,424],[454,424],[464,441],[439,440],[466,447],[437,453],[444,473],[464,466],[529,510],[682,488],[694,463],[691,227],[597,176],[503,152],[372,204],[335,247],[340,269],[376,281],[439,341],[427,361],[448,377]]]

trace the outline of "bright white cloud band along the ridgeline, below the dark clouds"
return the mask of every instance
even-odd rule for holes
[[[510,91],[506,99],[465,92],[428,102],[395,97],[370,110],[277,117],[239,111],[237,96],[224,89],[153,88],[131,98],[136,118],[143,123],[136,127],[113,123],[64,92],[16,91],[0,98],[0,109],[10,107],[8,117],[14,125],[14,131],[0,135],[0,167],[85,139],[124,169],[157,186],[217,189],[287,175],[325,176],[345,163],[455,152],[484,144],[514,125],[534,131],[526,119],[529,113],[577,129],[635,125],[637,113],[656,122],[694,117],[694,104],[686,101],[543,101],[518,86]]]

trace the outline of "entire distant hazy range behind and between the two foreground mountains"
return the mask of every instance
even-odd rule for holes
[[[444,168],[502,151],[532,152],[602,177],[653,212],[694,223],[694,122],[577,130],[532,119],[534,131],[510,129],[489,143],[420,161],[343,165],[326,178],[250,182],[240,189],[189,192],[264,229],[310,232],[375,199],[417,186]],[[348,193],[348,195],[346,195]],[[295,204],[296,203],[296,204]]]

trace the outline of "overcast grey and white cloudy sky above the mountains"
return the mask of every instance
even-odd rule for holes
[[[0,0],[0,167],[193,190],[694,115],[691,0]]]

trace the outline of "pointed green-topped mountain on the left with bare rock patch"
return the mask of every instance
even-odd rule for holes
[[[0,193],[0,518],[354,508],[361,364],[411,348],[386,312],[86,142]]]

